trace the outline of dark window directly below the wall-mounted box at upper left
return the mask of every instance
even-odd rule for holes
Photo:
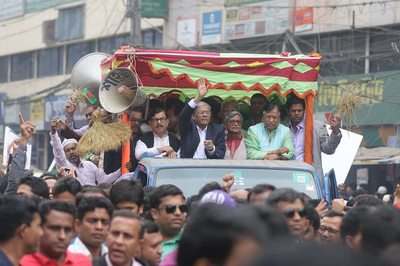
[[[37,77],[62,74],[64,47],[40,50],[37,53]]]

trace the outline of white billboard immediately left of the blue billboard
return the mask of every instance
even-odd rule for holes
[[[186,47],[197,45],[197,18],[178,18],[176,22],[176,41]]]

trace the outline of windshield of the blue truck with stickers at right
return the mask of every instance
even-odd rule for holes
[[[309,172],[300,170],[254,169],[254,168],[166,168],[156,173],[155,185],[172,184],[180,188],[185,197],[197,194],[209,182],[221,184],[224,174],[233,173],[235,183],[231,191],[252,188],[258,184],[269,184],[276,188],[292,188],[318,199],[318,185]]]

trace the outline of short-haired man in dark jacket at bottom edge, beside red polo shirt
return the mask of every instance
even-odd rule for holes
[[[139,248],[140,224],[140,216],[131,211],[115,211],[107,237],[108,253],[93,260],[93,266],[143,266],[133,257]]]

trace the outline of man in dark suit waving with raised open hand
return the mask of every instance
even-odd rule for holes
[[[197,83],[197,96],[183,107],[179,114],[180,158],[223,159],[225,131],[222,125],[210,123],[211,108],[201,100],[209,87],[205,78]]]

